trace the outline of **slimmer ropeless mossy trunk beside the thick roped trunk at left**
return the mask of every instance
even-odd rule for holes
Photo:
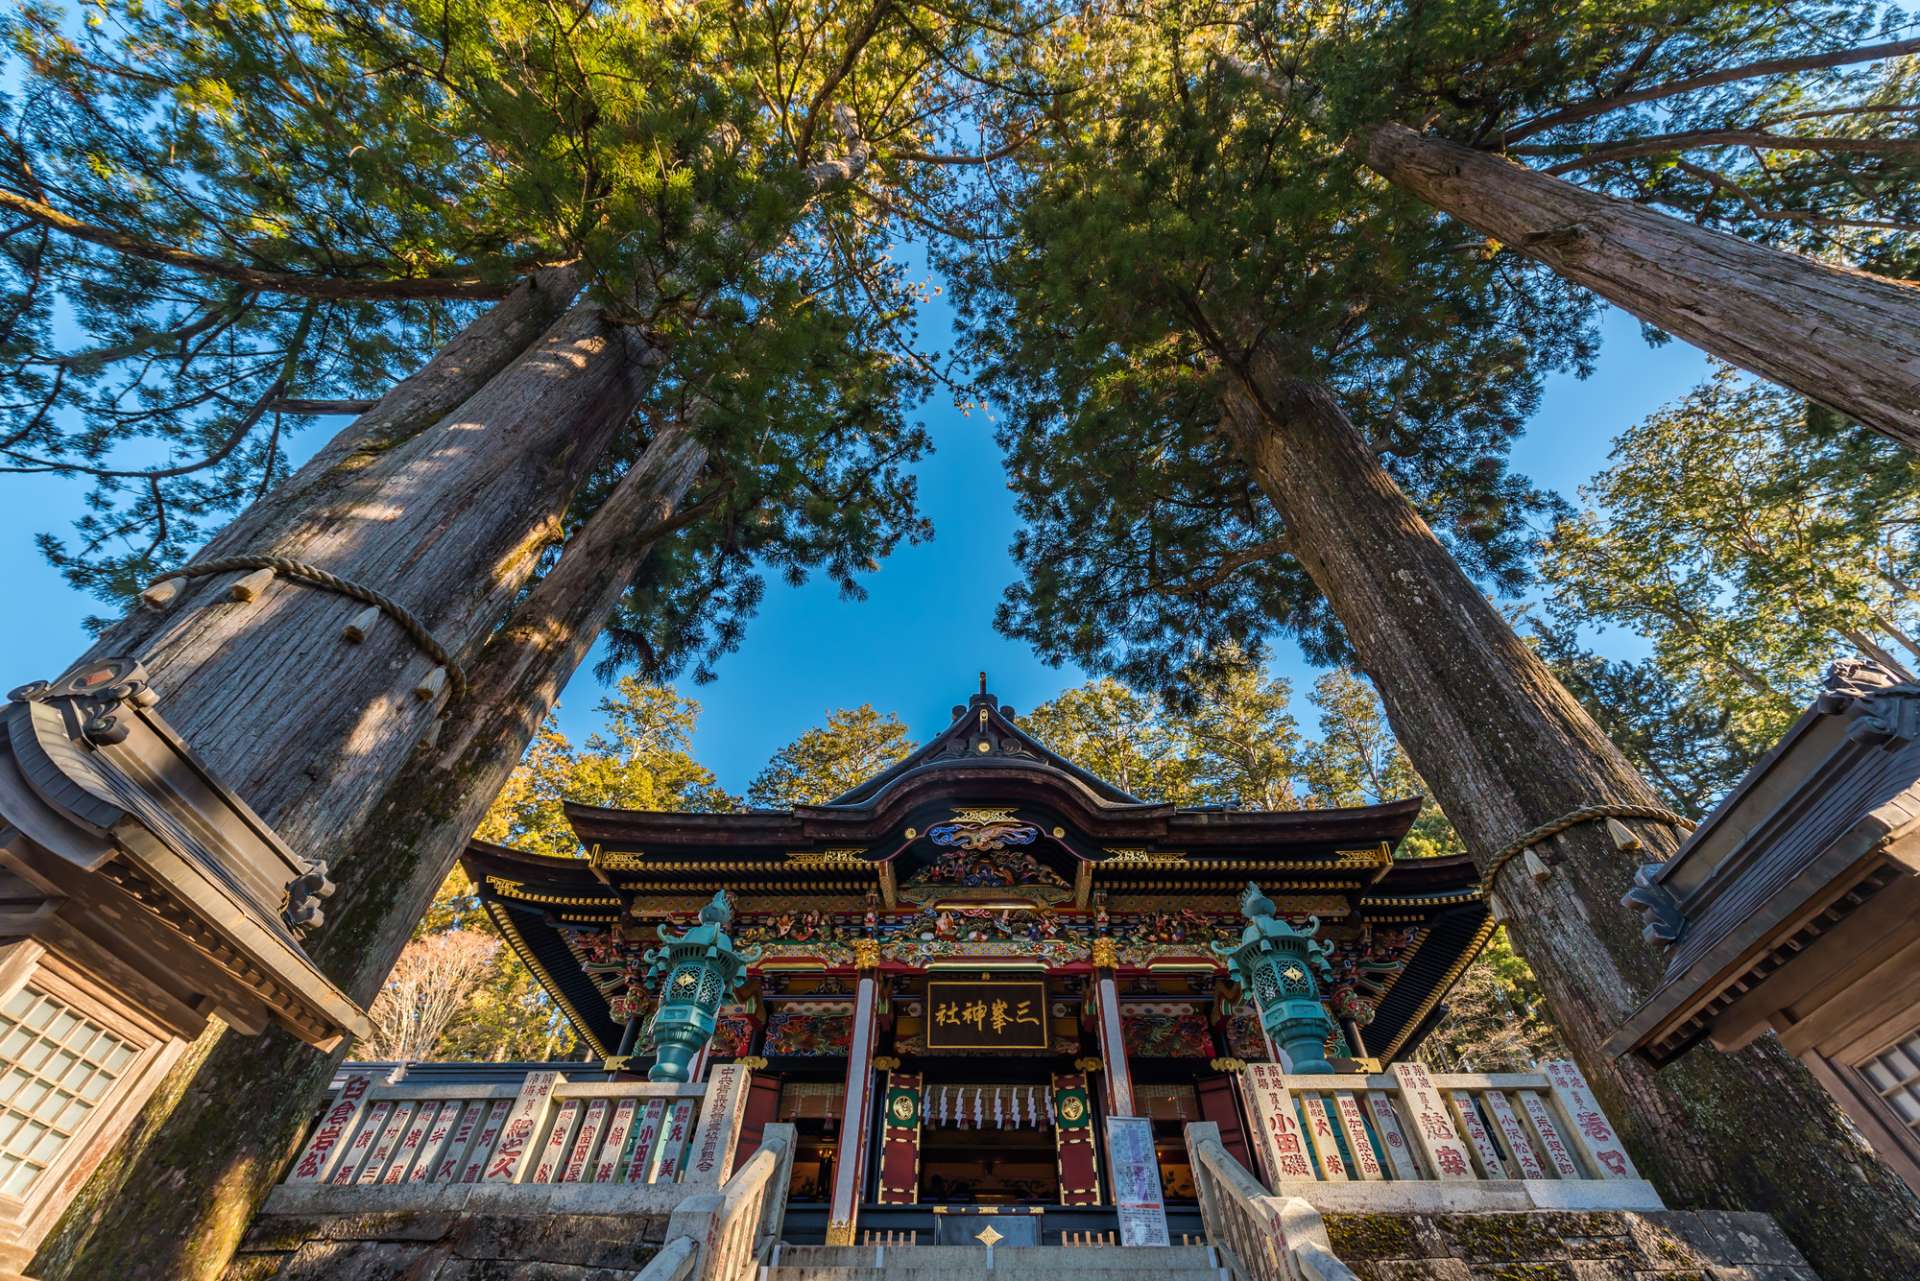
[[[603,421],[578,421],[576,434],[605,434],[630,409],[601,401]],[[442,741],[417,753],[359,820],[336,834],[334,847],[344,853],[334,864],[338,889],[309,953],[355,1001],[367,1003],[380,989],[647,549],[674,528],[705,459],[685,428],[662,430],[486,640],[467,697],[447,711]],[[346,1052],[317,1054],[278,1029],[263,1037],[209,1029],[67,1208],[33,1275],[221,1277]]]

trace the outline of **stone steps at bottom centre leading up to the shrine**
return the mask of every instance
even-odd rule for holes
[[[1212,1246],[781,1245],[758,1281],[1229,1281]]]

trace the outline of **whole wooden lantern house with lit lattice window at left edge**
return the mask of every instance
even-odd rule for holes
[[[0,1281],[211,1016],[332,1049],[367,1016],[301,931],[332,893],[159,714],[132,659],[0,705]]]

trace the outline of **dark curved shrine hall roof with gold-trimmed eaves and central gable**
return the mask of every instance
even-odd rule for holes
[[[1419,809],[1419,797],[1317,810],[1142,801],[1050,751],[983,689],[925,747],[826,805],[687,814],[568,803],[586,857],[472,841],[463,864],[492,920],[601,1054],[620,1037],[611,968],[582,939],[651,939],[655,924],[689,918],[720,887],[753,931],[781,914],[826,922],[812,941],[772,939],[770,964],[785,972],[847,970],[847,939],[876,931],[874,918],[862,926],[864,912],[879,912],[885,964],[922,968],[916,939],[933,935],[918,924],[900,933],[900,922],[952,908],[970,920],[1014,910],[1016,924],[1050,916],[1058,943],[1023,933],[1002,956],[1041,956],[1050,968],[1083,968],[1083,939],[1096,914],[1106,931],[1112,910],[1121,966],[1146,976],[1154,966],[1217,968],[1202,939],[1238,930],[1238,895],[1254,880],[1288,916],[1319,916],[1340,947],[1402,939],[1394,978],[1371,995],[1367,1031],[1371,1049],[1392,1058],[1440,1016],[1446,989],[1492,930],[1467,857],[1394,857]],[[1020,866],[1002,880],[941,880],[956,851]],[[1181,914],[1206,926],[1185,943],[1156,941],[1167,937],[1152,933],[1156,922]],[[962,947],[991,966],[1000,937]],[[1079,951],[1062,953],[1068,939]]]

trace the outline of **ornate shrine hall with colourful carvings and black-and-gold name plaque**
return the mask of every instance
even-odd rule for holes
[[[1098,1233],[1125,1202],[1110,1118],[1150,1122],[1125,1131],[1152,1135],[1131,1160],[1158,1164],[1171,1221],[1198,1231],[1183,1125],[1217,1124],[1256,1168],[1242,1068],[1382,1072],[1444,1014],[1492,931],[1469,858],[1396,857],[1419,809],[1142,801],[981,689],[933,741],[826,805],[568,803],[586,857],[476,841],[465,868],[611,1074],[753,1070],[737,1150],[795,1125],[795,1239],[851,1243],[856,1225],[945,1239],[943,1223],[972,1239],[977,1216]],[[1242,991],[1231,955],[1248,903],[1317,949],[1302,991],[1325,1018],[1306,1049]],[[662,947],[699,922],[737,953],[730,991],[705,991],[708,978],[672,991],[707,974],[672,968]],[[676,997],[710,1006],[695,1035],[666,1027]]]

